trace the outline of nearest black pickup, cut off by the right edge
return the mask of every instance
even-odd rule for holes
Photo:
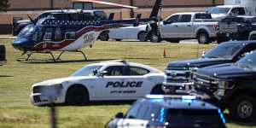
[[[193,75],[192,94],[228,108],[237,121],[256,120],[256,50],[236,63],[199,69]]]

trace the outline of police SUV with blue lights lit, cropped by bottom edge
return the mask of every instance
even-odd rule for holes
[[[107,128],[224,128],[219,108],[195,96],[146,96],[127,113],[117,113]]]

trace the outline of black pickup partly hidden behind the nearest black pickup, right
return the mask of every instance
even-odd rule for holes
[[[219,44],[199,59],[172,61],[165,69],[166,79],[163,90],[167,94],[191,90],[191,73],[201,67],[238,61],[245,53],[256,49],[255,41],[230,41]]]

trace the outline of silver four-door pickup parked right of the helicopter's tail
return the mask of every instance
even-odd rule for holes
[[[159,24],[159,31],[150,32],[151,42],[166,40],[178,43],[183,39],[197,39],[199,44],[209,44],[216,38],[218,21],[205,13],[177,13]],[[160,33],[160,34],[158,34]]]

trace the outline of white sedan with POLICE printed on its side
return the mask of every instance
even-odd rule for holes
[[[32,85],[34,105],[90,101],[136,100],[146,94],[161,94],[165,74],[153,67],[127,61],[105,61],[82,67],[70,77]]]

